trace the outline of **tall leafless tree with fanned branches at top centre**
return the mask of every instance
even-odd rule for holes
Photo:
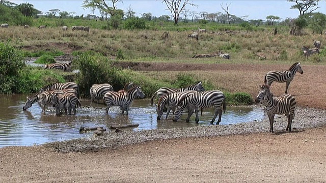
[[[174,24],[178,24],[179,14],[187,6],[197,6],[192,3],[189,3],[189,0],[163,0],[162,3],[165,3],[170,10],[172,17],[174,18]],[[181,6],[180,6],[181,5]]]

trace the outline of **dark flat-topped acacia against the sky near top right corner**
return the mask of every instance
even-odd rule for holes
[[[318,2],[320,0],[288,0],[288,2],[293,2],[296,5],[290,7],[290,9],[298,9],[300,15],[304,15],[307,11],[312,13],[313,11],[317,10]]]

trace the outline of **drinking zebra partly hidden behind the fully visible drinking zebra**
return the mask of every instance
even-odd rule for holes
[[[191,95],[197,91],[189,90],[185,92],[177,92],[177,93],[170,93],[168,95],[164,95],[158,99],[157,105],[156,105],[156,112],[157,112],[157,120],[161,119],[161,116],[163,115],[163,109],[168,108],[167,110],[167,116],[166,119],[168,119],[168,115],[172,109],[172,113],[175,112],[177,104],[180,102],[183,97],[186,97],[188,95]]]

